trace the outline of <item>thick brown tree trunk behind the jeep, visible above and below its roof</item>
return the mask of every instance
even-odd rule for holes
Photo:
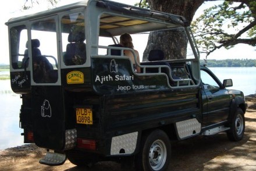
[[[184,16],[192,22],[195,11],[204,0],[148,0],[150,9]],[[154,31],[148,37],[148,44],[143,54],[143,61],[148,60],[151,49],[161,49],[165,59],[186,58],[187,40],[181,31]]]

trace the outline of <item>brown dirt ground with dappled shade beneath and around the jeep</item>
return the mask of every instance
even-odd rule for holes
[[[256,95],[248,96],[247,103],[243,140],[231,142],[222,133],[173,143],[168,170],[256,170]],[[123,170],[115,162],[99,162],[93,168],[80,168],[68,160],[61,166],[41,165],[38,160],[45,152],[31,144],[2,150],[0,170]]]

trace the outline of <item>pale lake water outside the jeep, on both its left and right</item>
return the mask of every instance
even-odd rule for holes
[[[256,67],[212,67],[212,72],[219,80],[232,79],[233,87],[241,90],[244,95],[256,93]],[[9,72],[0,72],[0,75]],[[23,129],[19,128],[19,112],[22,99],[13,93],[10,80],[0,80],[0,149],[23,145]]]

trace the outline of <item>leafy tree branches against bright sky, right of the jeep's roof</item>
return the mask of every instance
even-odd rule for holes
[[[207,56],[211,52],[236,44],[256,45],[256,2],[234,3],[224,1],[204,10],[192,24],[197,44]]]

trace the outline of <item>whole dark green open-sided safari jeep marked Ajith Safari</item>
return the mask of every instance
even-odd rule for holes
[[[10,82],[20,94],[24,143],[47,149],[40,160],[62,165],[134,161],[137,170],[165,170],[173,140],[226,131],[243,138],[246,103],[205,66],[182,16],[90,0],[10,19]],[[174,31],[173,52],[150,48],[148,35]],[[142,59],[137,72],[119,36],[130,33]],[[149,41],[149,42],[148,42]],[[138,44],[136,44],[138,42]],[[152,46],[154,47],[154,46]],[[148,53],[144,50],[148,49]],[[127,159],[127,160],[126,160]]]

